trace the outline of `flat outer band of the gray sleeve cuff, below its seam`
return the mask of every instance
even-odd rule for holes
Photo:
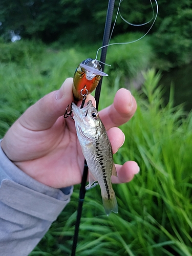
[[[11,208],[53,222],[69,203],[70,195],[63,194],[59,200],[5,179],[0,187],[0,200]]]

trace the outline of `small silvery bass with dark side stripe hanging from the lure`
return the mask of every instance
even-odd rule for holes
[[[117,213],[118,205],[111,181],[111,176],[117,177],[117,172],[105,127],[91,100],[84,108],[73,102],[72,111],[77,137],[89,167],[89,185],[86,188],[91,188],[97,181],[106,215],[111,211]]]

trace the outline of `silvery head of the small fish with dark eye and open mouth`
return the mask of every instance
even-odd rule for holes
[[[82,109],[72,103],[72,110],[77,132],[79,131],[87,138],[99,136],[100,129],[98,128],[101,126],[101,119],[91,100]]]

